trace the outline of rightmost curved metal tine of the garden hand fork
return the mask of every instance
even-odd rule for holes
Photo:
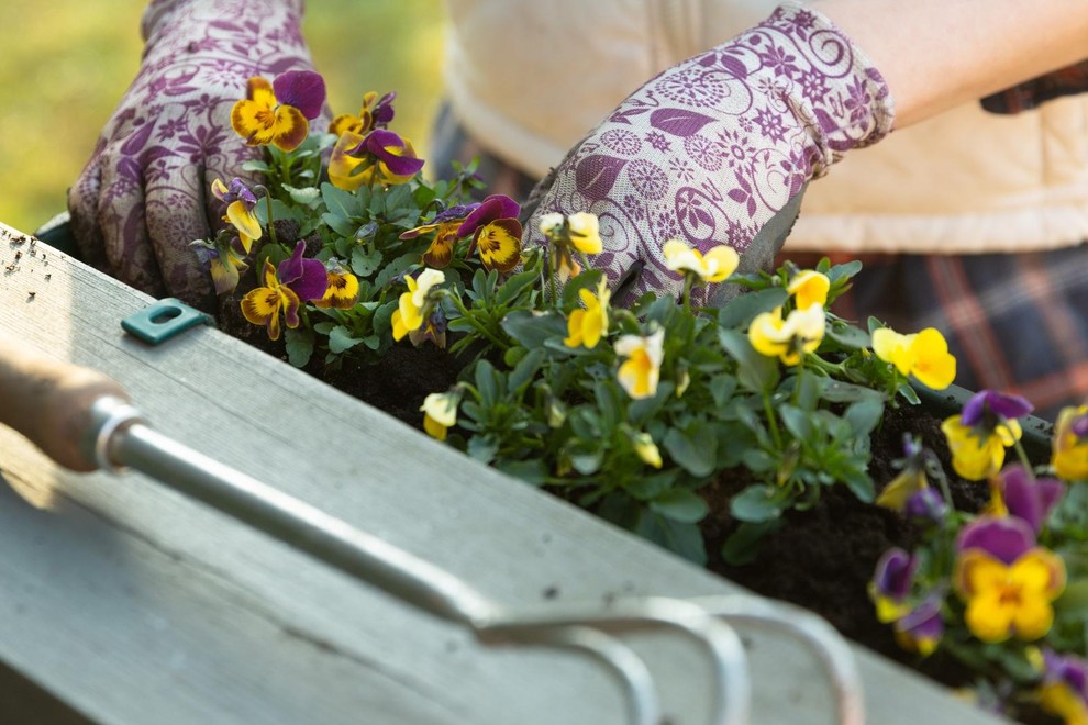
[[[840,724],[865,724],[865,696],[857,660],[846,640],[825,620],[792,604],[744,594],[689,601],[713,616],[780,632],[807,645],[828,669]]]

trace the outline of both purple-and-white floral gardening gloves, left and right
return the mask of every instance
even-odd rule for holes
[[[212,180],[244,177],[262,154],[232,132],[231,109],[251,76],[312,69],[301,16],[302,0],[151,3],[140,74],[69,193],[87,260],[156,297],[211,305],[189,243],[222,224]],[[662,253],[673,238],[728,244],[741,271],[767,267],[808,181],[892,120],[865,55],[790,0],[650,80],[578,143],[534,194],[526,246],[543,243],[543,213],[597,214],[604,248],[593,263],[618,302],[679,294]]]

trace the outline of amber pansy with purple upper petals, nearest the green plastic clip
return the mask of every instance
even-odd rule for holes
[[[306,242],[299,241],[295,254],[273,267],[265,259],[265,286],[242,298],[242,314],[255,325],[265,325],[269,339],[279,339],[279,315],[288,327],[299,326],[299,306],[320,300],[329,281],[325,266],[317,259],[303,259]]]

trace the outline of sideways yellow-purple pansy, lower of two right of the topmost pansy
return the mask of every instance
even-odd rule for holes
[[[411,142],[392,131],[375,129],[366,135],[347,131],[333,146],[329,180],[346,191],[363,185],[395,186],[411,181],[423,164]]]

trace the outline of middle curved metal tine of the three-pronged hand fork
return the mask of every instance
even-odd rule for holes
[[[711,722],[747,725],[752,681],[744,645],[732,626],[689,600],[650,596],[618,600],[608,607],[549,606],[535,612],[499,615],[475,623],[485,644],[532,642],[554,627],[591,626],[603,632],[636,632],[668,627],[693,639],[707,652],[714,680]]]

